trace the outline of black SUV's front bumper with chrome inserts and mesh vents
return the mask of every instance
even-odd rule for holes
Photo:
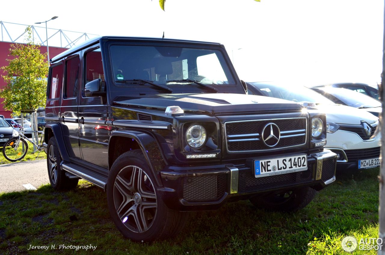
[[[158,191],[170,209],[200,211],[215,210],[226,201],[247,199],[256,193],[304,186],[321,190],[335,181],[336,157],[335,153],[324,150],[307,156],[308,169],[305,171],[259,178],[253,174],[250,163],[253,159],[244,161],[244,164],[168,166],[161,171],[164,187]]]

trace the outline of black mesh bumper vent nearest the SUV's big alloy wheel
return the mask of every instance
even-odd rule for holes
[[[189,202],[214,201],[226,191],[226,175],[187,177],[183,183],[183,199]]]

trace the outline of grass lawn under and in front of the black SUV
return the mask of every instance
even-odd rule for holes
[[[110,220],[106,194],[86,181],[67,192],[44,185],[3,193],[0,254],[349,254],[340,245],[346,235],[377,237],[378,171],[338,174],[338,182],[296,213],[256,210],[249,201],[191,213],[177,238],[152,244],[123,238]],[[97,247],[59,250],[62,244]],[[50,248],[28,250],[30,245]]]

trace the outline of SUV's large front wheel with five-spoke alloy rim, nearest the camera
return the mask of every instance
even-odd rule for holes
[[[182,230],[187,213],[167,208],[157,188],[140,149],[116,159],[108,176],[107,203],[124,237],[152,242],[174,237]]]

